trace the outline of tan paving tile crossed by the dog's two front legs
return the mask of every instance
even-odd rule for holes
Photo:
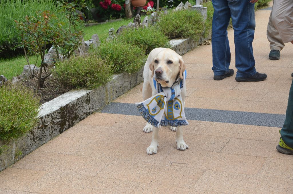
[[[220,152],[229,141],[230,137],[195,135],[186,133],[183,135],[185,143],[190,149]],[[143,135],[136,143],[150,144],[151,135]],[[159,132],[159,145],[177,148],[175,132]],[[160,148],[159,148],[160,149]]]

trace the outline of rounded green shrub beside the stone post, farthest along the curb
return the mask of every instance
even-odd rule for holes
[[[193,40],[197,40],[204,30],[202,15],[191,9],[170,10],[167,14],[160,16],[157,26],[171,39],[191,37]]]

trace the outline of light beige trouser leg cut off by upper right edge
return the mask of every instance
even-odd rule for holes
[[[272,23],[284,43],[293,40],[293,0],[274,1]]]

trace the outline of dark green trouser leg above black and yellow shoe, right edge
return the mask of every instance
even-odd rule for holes
[[[289,100],[286,110],[284,126],[281,129],[281,137],[287,146],[293,148],[293,81],[289,91]]]

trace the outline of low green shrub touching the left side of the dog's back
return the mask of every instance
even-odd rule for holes
[[[100,55],[113,68],[114,73],[137,72],[146,59],[141,48],[115,40],[104,42],[90,52]]]

